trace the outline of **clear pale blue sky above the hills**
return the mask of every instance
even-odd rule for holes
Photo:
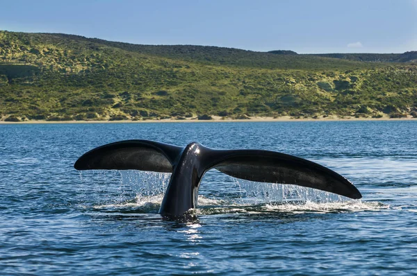
[[[0,0],[0,30],[298,53],[417,51],[417,0]]]

